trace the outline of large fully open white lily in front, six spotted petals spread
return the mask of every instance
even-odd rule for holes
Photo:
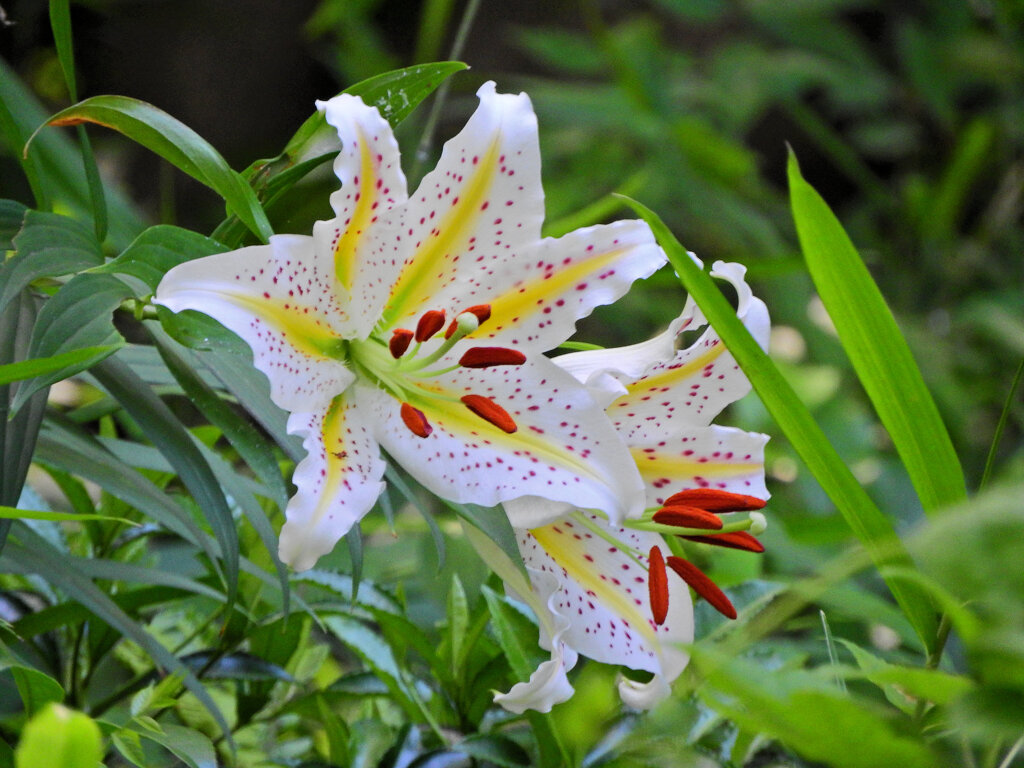
[[[646,224],[541,238],[537,119],[493,83],[409,197],[378,111],[318,102],[341,139],[335,218],[181,264],[156,303],[239,334],[306,458],[280,552],[311,567],[383,489],[380,449],[432,493],[493,506],[524,494],[611,519],[642,511],[622,440],[543,355],[665,262]],[[446,329],[446,330],[445,330]]]

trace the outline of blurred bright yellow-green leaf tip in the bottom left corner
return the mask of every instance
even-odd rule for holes
[[[50,705],[26,723],[14,751],[16,768],[96,768],[102,758],[99,726],[60,705]]]

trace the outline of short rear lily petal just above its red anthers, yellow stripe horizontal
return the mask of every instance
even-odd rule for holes
[[[630,453],[647,489],[647,506],[660,506],[680,488],[710,487],[767,499],[764,447],[768,435],[733,427],[688,427],[676,434],[635,435]]]

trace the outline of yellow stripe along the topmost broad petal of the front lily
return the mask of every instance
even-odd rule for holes
[[[398,317],[416,312],[420,308],[414,306],[417,299],[422,306],[429,297],[434,296],[443,285],[449,257],[469,245],[474,223],[486,203],[487,193],[495,180],[501,138],[501,134],[497,134],[487,151],[477,156],[474,170],[459,189],[458,201],[440,217],[437,233],[427,237],[406,263],[391,288],[391,297],[382,317],[384,328],[390,328]],[[415,226],[418,222],[410,223]]]

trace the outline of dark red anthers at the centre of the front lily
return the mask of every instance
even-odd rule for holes
[[[459,312],[459,315],[452,321],[447,330],[444,331],[445,339],[451,339],[459,329],[459,316],[467,313],[472,314],[476,318],[477,327],[479,327],[490,317],[490,305],[477,304]],[[442,328],[444,328],[443,309],[430,309],[424,312],[416,324],[416,331],[410,331],[408,328],[396,328],[391,332],[391,339],[388,342],[388,349],[391,351],[391,356],[395,359],[401,358],[414,340],[417,344],[422,344],[424,341],[433,338]],[[509,349],[508,347],[470,347],[459,358],[459,365],[463,368],[521,366],[525,361],[526,355],[518,349]],[[478,417],[494,424],[504,432],[511,434],[518,429],[508,411],[495,402],[490,397],[485,397],[482,394],[467,394],[463,395],[460,399],[466,408]],[[402,422],[409,427],[409,431],[417,437],[429,437],[430,433],[434,431],[433,427],[430,426],[430,422],[427,421],[426,415],[415,406],[402,402],[400,415]]]

